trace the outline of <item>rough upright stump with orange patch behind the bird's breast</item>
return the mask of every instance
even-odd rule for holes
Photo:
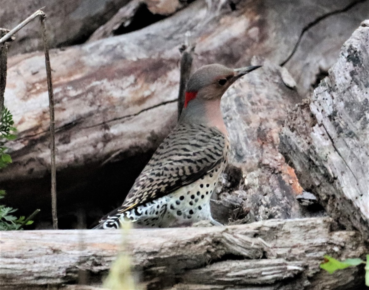
[[[213,194],[213,216],[223,223],[303,217],[296,200],[302,188],[278,152],[278,133],[300,96],[286,85],[292,79],[286,69],[261,58],[251,63],[263,67],[235,83],[222,100],[231,164]],[[221,204],[231,210],[218,215]]]

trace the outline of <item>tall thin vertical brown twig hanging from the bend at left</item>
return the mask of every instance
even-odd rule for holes
[[[52,79],[51,79],[51,66],[49,47],[46,36],[45,27],[45,14],[40,15],[42,37],[44,38],[45,48],[45,64],[46,64],[46,76],[47,76],[47,87],[49,92],[49,109],[50,109],[50,151],[51,151],[51,212],[52,212],[52,225],[54,229],[58,228],[58,217],[56,215],[56,168],[55,168],[55,120],[54,120],[54,93],[52,90]]]

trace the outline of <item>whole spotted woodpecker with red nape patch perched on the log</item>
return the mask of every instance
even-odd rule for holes
[[[189,79],[177,126],[135,180],[121,207],[95,228],[176,227],[210,220],[210,196],[228,161],[230,142],[220,100],[239,77],[260,66],[206,65]]]

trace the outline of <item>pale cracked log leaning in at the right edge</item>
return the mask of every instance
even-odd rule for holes
[[[289,114],[280,149],[328,214],[369,238],[369,21],[313,96]]]

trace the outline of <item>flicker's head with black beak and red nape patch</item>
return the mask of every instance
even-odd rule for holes
[[[184,108],[187,108],[195,99],[200,102],[201,100],[220,100],[228,87],[239,77],[260,67],[257,65],[230,69],[217,63],[202,66],[193,73],[187,83]]]

